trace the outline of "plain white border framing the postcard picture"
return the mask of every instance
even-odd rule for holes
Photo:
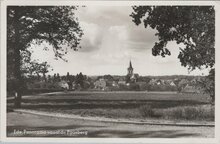
[[[214,5],[216,10],[216,104],[215,104],[215,138],[7,138],[6,137],[6,6],[7,5],[97,5],[97,6],[131,6],[131,5]],[[4,0],[1,2],[1,119],[0,140],[4,142],[53,142],[53,143],[220,143],[220,2],[214,1],[66,1],[66,0]]]

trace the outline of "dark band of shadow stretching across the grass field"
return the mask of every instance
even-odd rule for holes
[[[61,103],[63,102],[63,103]],[[149,105],[152,108],[171,108],[176,106],[196,106],[207,104],[192,100],[51,100],[43,103],[38,100],[23,100],[22,108],[25,109],[96,109],[96,108],[139,108],[142,105]],[[10,107],[9,107],[10,108]]]

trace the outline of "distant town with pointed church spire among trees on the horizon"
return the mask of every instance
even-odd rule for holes
[[[134,73],[132,62],[128,63],[124,76],[87,76],[83,73],[60,76],[35,75],[27,78],[27,90],[31,92],[50,92],[61,90],[91,91],[178,91],[199,93],[197,83],[201,76],[140,76]]]

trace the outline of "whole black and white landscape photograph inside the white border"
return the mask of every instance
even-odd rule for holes
[[[215,138],[214,4],[5,10],[6,138]]]

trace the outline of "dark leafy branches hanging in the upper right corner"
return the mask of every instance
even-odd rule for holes
[[[170,55],[170,41],[184,44],[178,58],[189,70],[215,65],[215,10],[213,6],[134,6],[130,15],[136,25],[144,23],[156,29],[158,41],[152,48],[154,56]],[[212,73],[211,73],[212,74]],[[214,76],[209,79],[214,85]],[[212,92],[214,89],[211,90]]]

